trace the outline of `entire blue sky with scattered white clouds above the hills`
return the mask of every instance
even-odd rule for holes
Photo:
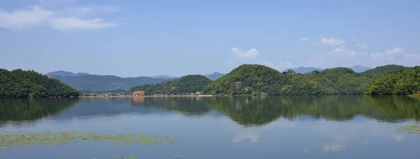
[[[0,1],[0,68],[137,77],[420,65],[420,1]]]

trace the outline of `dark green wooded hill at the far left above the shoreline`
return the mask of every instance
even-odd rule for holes
[[[0,69],[0,98],[70,97],[78,96],[76,89],[33,70]]]

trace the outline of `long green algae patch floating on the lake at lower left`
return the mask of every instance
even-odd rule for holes
[[[27,146],[54,146],[62,144],[78,144],[80,141],[99,141],[111,144],[170,144],[175,139],[160,136],[144,136],[135,134],[102,135],[91,132],[29,132],[0,134],[1,149],[24,149]]]

